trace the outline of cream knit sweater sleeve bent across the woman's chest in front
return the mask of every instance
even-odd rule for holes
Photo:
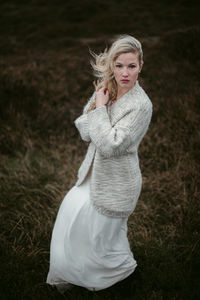
[[[112,127],[106,106],[101,106],[87,114],[90,138],[101,155],[123,155],[130,146],[139,145],[148,129],[151,114],[152,107],[148,103],[129,111]]]

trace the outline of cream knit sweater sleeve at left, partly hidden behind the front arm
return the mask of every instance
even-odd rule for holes
[[[89,99],[89,101],[83,108],[83,114],[74,121],[75,126],[78,129],[82,140],[85,142],[90,142],[90,136],[88,131],[87,110],[93,101],[95,101],[95,92],[93,93],[92,97]]]

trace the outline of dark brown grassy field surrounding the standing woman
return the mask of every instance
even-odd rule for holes
[[[200,28],[195,1],[42,0],[0,4],[0,298],[200,298]],[[55,217],[87,145],[74,120],[93,91],[89,48],[143,44],[152,122],[143,190],[129,218],[137,270],[100,292],[46,285]],[[89,220],[88,220],[89,221]]]

